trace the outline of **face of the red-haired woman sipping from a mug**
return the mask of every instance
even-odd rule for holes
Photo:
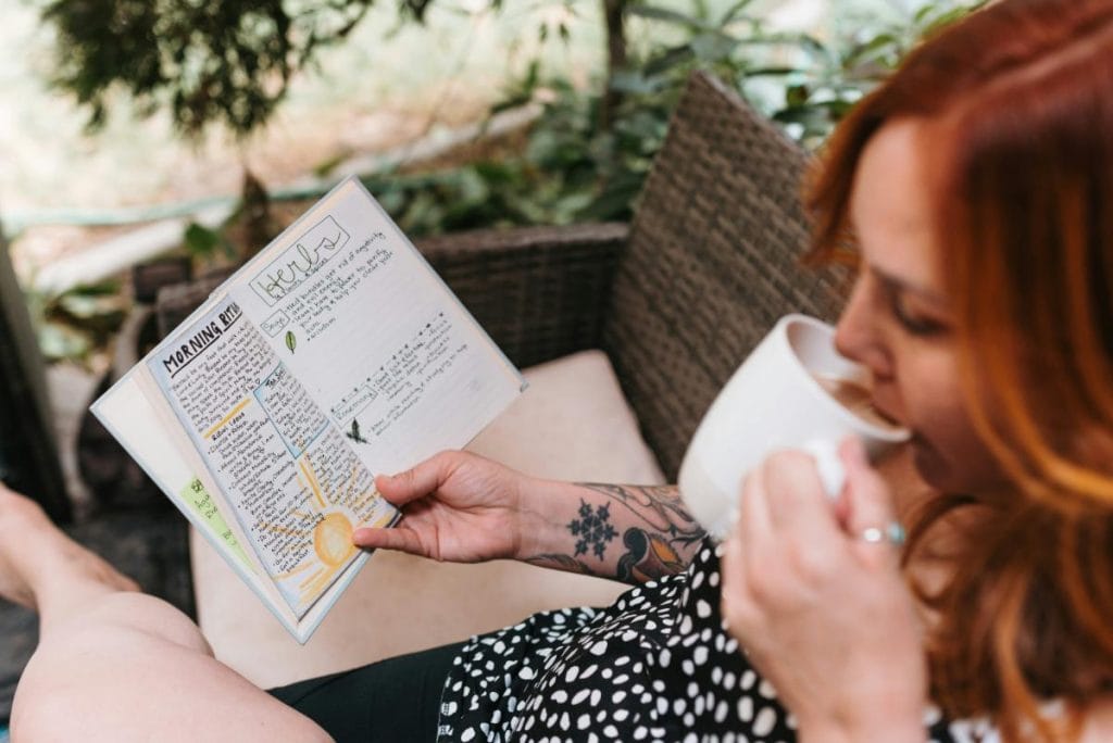
[[[998,487],[1003,476],[974,432],[959,390],[951,303],[930,228],[923,123],[897,120],[858,165],[850,219],[861,265],[839,319],[839,350],[874,374],[874,403],[913,432],[920,476],[942,491]]]

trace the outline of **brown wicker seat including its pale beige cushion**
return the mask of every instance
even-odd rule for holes
[[[837,277],[799,266],[807,228],[797,182],[805,164],[736,95],[696,75],[632,225],[420,241],[512,361],[531,367],[565,357],[528,373],[533,394],[472,442],[480,445],[473,450],[560,479],[674,482],[705,409],[775,319],[835,314]],[[164,330],[218,283],[164,288],[157,301]],[[599,373],[598,351],[568,357],[587,349],[602,349],[615,375]],[[588,359],[593,374],[585,373]],[[542,382],[558,369],[563,382],[554,398]],[[533,406],[530,415],[515,413],[521,405]],[[631,442],[638,438],[631,417],[644,444]],[[491,444],[500,428],[495,445],[484,448],[480,439]],[[604,605],[623,588],[509,561],[457,565],[383,553],[297,647],[194,537],[198,622],[217,657],[260,686],[456,642],[545,608]]]

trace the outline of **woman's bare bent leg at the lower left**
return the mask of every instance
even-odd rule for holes
[[[219,663],[197,626],[0,486],[0,596],[36,608],[16,741],[324,741],[313,721]]]

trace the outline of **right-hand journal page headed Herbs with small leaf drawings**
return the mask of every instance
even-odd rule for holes
[[[327,419],[375,474],[463,447],[523,387],[356,179],[237,274],[229,294],[316,403],[314,425]]]

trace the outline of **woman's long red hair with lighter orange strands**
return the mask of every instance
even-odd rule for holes
[[[1113,692],[1113,0],[1004,0],[909,55],[814,172],[812,257],[846,245],[861,153],[898,118],[930,132],[963,393],[1014,485],[939,496],[914,529],[981,507],[925,593],[933,693],[1007,739],[1062,737],[1041,702]]]

